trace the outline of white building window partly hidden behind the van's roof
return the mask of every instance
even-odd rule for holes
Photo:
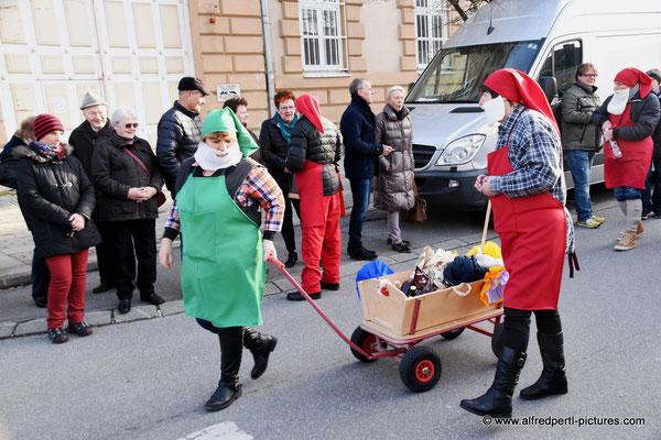
[[[447,40],[446,0],[415,0],[415,57],[424,69]]]

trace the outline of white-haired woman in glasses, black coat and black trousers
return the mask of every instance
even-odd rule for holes
[[[118,107],[110,122],[110,138],[99,142],[94,150],[91,178],[97,190],[99,222],[107,227],[115,246],[117,310],[127,314],[131,310],[134,280],[141,300],[153,305],[163,302],[154,292],[155,222],[163,177],[149,142],[136,135],[136,111]]]

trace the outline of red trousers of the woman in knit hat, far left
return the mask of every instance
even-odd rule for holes
[[[65,309],[69,324],[85,319],[85,283],[87,280],[87,255],[89,250],[75,254],[46,257],[51,270],[48,285],[48,329],[64,327]]]

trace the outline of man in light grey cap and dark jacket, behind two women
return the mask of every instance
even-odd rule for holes
[[[80,110],[85,117],[85,121],[78,125],[69,136],[69,144],[74,147],[73,155],[78,157],[85,174],[91,180],[91,154],[97,142],[108,139],[112,132],[110,121],[108,121],[108,113],[106,109],[106,101],[97,97],[91,92],[85,94],[83,103],[80,103]],[[95,221],[98,218],[93,213]],[[110,290],[113,286],[112,279],[115,278],[112,271],[115,267],[115,254],[112,253],[112,246],[110,242],[108,231],[104,229],[104,223],[97,223],[97,229],[104,238],[104,242],[97,244],[97,262],[99,264],[99,277],[101,283],[95,287],[91,292],[94,294],[101,294],[106,290]]]

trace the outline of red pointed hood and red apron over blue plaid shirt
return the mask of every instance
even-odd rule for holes
[[[544,114],[557,129],[544,92],[528,75],[511,68],[500,69],[489,75],[485,86],[512,102],[521,102]],[[508,141],[505,147],[489,154],[490,176],[503,176],[514,170],[508,157],[511,131],[500,135],[507,136]],[[564,206],[549,191],[516,199],[499,194],[490,200],[505,267],[510,275],[505,286],[505,307],[557,309],[566,246]]]

